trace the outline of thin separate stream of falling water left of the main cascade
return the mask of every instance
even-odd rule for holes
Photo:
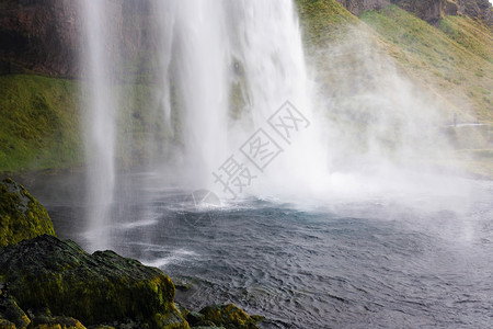
[[[87,223],[92,249],[108,247],[105,232],[115,185],[115,97],[111,88],[111,15],[106,1],[80,1],[83,13]],[[105,23],[106,22],[106,23]]]

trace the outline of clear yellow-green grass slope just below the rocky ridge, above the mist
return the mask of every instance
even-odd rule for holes
[[[493,121],[493,42],[488,27],[469,18],[447,16],[437,29],[397,5],[365,12],[360,19],[411,77],[454,104],[459,115]]]

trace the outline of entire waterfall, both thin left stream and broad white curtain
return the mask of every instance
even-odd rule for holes
[[[122,52],[125,52],[118,45],[126,42],[122,41],[125,34],[119,30],[124,24],[123,15],[133,13],[123,13],[122,3],[117,1],[80,3],[84,22],[82,71],[88,238],[89,248],[102,249],[111,246],[108,230],[115,216],[116,149],[125,155],[133,154],[126,149],[131,147],[128,140],[133,137],[125,136],[131,128],[122,129],[116,124],[123,111],[116,71],[124,71],[118,65],[122,64]],[[163,115],[157,115],[156,109],[149,109],[148,113],[152,113],[149,114],[151,121],[163,117],[164,126],[179,135],[173,138],[181,145],[173,158],[169,154],[157,154],[156,150],[169,149],[157,145],[140,144],[150,151],[138,151],[150,154],[153,163],[162,161],[160,170],[179,177],[179,184],[185,189],[208,189],[221,194],[223,186],[215,174],[234,156],[255,178],[248,189],[237,191],[237,194],[243,193],[242,196],[246,193],[296,192],[301,184],[310,183],[307,173],[318,175],[323,161],[317,157],[323,151],[313,138],[317,128],[309,80],[291,1],[169,0],[150,3],[152,13],[149,18],[153,19],[145,24],[150,31],[157,31],[147,37],[157,37],[149,44],[153,44],[152,49],[158,53],[157,80],[162,92],[157,98]],[[294,144],[283,139],[272,129],[274,126],[268,125],[268,118],[285,102],[306,117],[303,129],[311,123],[310,129],[297,136]],[[179,113],[179,123],[172,120],[173,111]],[[242,145],[259,128],[279,147],[276,161],[262,170],[241,151]],[[122,135],[118,138],[126,144],[117,145],[117,135]],[[287,175],[289,181],[285,179]],[[133,192],[125,193],[131,195]]]

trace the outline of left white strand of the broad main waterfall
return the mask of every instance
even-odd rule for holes
[[[228,45],[221,4],[188,0],[176,8],[185,167],[196,186],[209,182],[215,161],[226,155]]]

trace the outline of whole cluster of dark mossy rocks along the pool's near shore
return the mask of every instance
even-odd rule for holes
[[[179,310],[160,270],[58,239],[46,209],[11,179],[0,183],[0,329],[257,328],[232,304]]]

